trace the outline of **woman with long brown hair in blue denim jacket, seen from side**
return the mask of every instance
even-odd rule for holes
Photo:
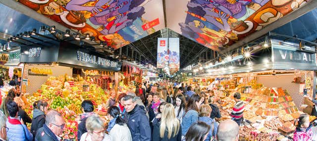
[[[182,120],[182,134],[185,135],[189,127],[196,121],[198,121],[199,107],[202,105],[202,98],[198,94],[192,95],[185,108],[185,114]]]

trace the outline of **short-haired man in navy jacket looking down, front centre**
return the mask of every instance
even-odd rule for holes
[[[135,97],[127,95],[123,97],[123,106],[128,112],[127,125],[130,129],[132,141],[151,141],[151,128],[147,111],[143,106],[136,104]]]

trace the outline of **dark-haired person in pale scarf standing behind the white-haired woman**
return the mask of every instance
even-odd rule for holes
[[[80,123],[78,124],[78,131],[77,131],[77,139],[80,141],[81,136],[87,132],[86,128],[86,120],[88,117],[94,115],[94,104],[91,100],[84,100],[81,103],[81,110],[83,114],[80,115]]]

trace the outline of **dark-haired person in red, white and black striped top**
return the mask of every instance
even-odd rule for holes
[[[241,101],[241,94],[239,92],[234,93],[233,95],[234,101],[236,102],[236,105],[233,107],[230,116],[232,117],[232,120],[237,122],[237,124],[240,126],[241,122],[243,121],[243,111],[245,108],[245,105],[243,101]]]

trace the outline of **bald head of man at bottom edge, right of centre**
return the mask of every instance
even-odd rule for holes
[[[217,141],[239,141],[239,125],[230,119],[220,122],[217,129]]]

